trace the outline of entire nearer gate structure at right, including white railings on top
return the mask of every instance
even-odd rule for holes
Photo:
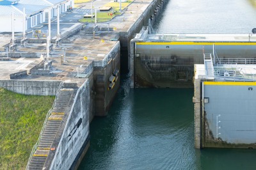
[[[254,59],[195,65],[195,147],[256,148]],[[250,63],[248,61],[250,60]],[[214,71],[214,76],[209,72]]]

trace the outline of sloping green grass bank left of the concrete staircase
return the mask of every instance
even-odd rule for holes
[[[54,97],[0,88],[0,169],[24,169]]]

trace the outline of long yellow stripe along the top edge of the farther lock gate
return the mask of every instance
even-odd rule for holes
[[[256,45],[249,42],[136,42],[137,45]]]

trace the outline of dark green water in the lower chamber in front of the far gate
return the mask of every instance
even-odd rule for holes
[[[194,148],[193,89],[121,88],[79,169],[256,169],[256,150]]]

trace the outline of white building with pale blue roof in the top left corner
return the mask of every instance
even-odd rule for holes
[[[48,11],[51,10],[51,18],[57,16],[57,8],[60,13],[74,8],[74,0],[3,0],[0,1],[0,20],[4,26],[0,32],[12,32],[12,13],[14,15],[14,31],[23,31],[23,9],[26,14],[26,30],[35,27],[42,22],[47,22]]]

